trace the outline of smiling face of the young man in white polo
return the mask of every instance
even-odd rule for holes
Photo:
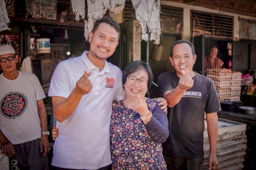
[[[110,57],[118,45],[119,33],[107,23],[101,23],[94,34],[89,33],[90,53],[93,57],[105,60]]]

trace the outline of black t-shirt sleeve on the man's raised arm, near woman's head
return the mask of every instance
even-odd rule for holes
[[[167,73],[159,75],[157,79],[157,86],[160,97],[163,97],[164,92],[173,90],[173,85],[170,82],[170,77],[168,77]]]

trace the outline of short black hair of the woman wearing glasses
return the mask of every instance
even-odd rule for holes
[[[137,71],[140,71],[141,69],[145,69],[145,71],[148,73],[148,88],[150,88],[152,82],[153,82],[153,73],[152,73],[152,70],[150,68],[150,66],[148,65],[148,63],[146,62],[143,62],[143,61],[133,61],[131,62],[130,64],[128,64],[125,69],[122,71],[123,73],[123,76],[122,76],[122,83],[123,85],[125,84],[126,82],[126,78],[137,72]]]

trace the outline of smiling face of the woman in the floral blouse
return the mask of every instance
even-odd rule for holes
[[[130,75],[128,75],[128,77],[129,76],[136,77],[137,79],[148,80],[148,72],[145,69],[141,69],[140,71],[131,73]],[[145,94],[147,93],[147,90],[148,90],[147,84],[140,85],[139,80],[137,80],[135,83],[131,83],[129,81],[128,77],[126,78],[126,82],[124,84],[127,99],[130,101],[135,100],[137,98],[138,94],[145,96]]]

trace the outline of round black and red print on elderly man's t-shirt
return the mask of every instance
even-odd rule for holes
[[[10,92],[1,100],[1,114],[8,119],[21,116],[28,105],[28,100],[23,93]]]

